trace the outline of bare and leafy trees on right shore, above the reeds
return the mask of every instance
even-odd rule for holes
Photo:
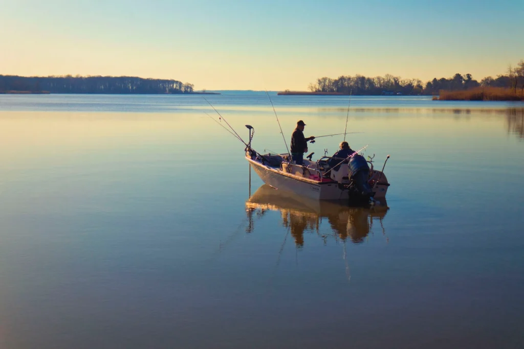
[[[439,91],[458,91],[478,86],[509,87],[524,90],[524,60],[515,67],[509,66],[506,75],[496,78],[485,77],[478,82],[471,74],[455,74],[450,78],[434,78],[423,84],[419,79],[402,79],[400,76],[386,74],[384,76],[366,77],[363,75],[339,76],[336,79],[329,77],[319,78],[316,83],[309,84],[311,92],[339,92],[350,91],[354,95],[438,95]]]

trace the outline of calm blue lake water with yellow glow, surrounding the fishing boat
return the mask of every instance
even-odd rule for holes
[[[265,94],[206,98],[285,152]],[[288,144],[344,131],[346,97],[272,98]],[[249,186],[202,96],[0,95],[0,348],[521,348],[523,110],[353,97],[366,210]]]

